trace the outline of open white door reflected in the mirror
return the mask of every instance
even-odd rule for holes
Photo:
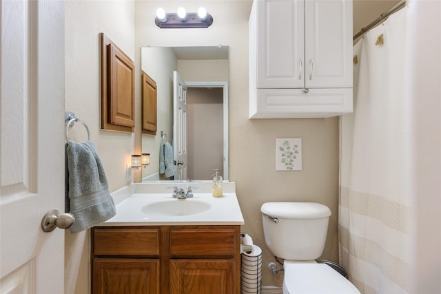
[[[187,180],[187,84],[173,72],[173,150],[175,180]]]

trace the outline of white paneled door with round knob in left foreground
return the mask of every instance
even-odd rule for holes
[[[64,4],[0,5],[0,293],[63,293]]]

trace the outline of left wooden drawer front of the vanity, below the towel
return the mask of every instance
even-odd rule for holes
[[[94,229],[94,255],[159,255],[159,229]]]

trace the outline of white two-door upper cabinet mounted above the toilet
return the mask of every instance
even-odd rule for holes
[[[351,0],[254,1],[249,17],[249,118],[352,112],[351,88]]]

